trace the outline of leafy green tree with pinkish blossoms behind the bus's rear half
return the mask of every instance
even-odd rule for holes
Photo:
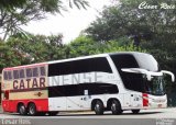
[[[11,36],[7,45],[13,48],[22,58],[26,58],[26,64],[48,61],[64,58],[62,35],[28,35],[29,37]],[[23,64],[23,65],[26,65]]]

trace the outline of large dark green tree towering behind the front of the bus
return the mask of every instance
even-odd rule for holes
[[[176,0],[120,0],[119,3],[105,8],[101,16],[86,30],[86,34],[100,43],[131,37],[134,45],[154,55],[161,69],[176,75],[176,9],[164,9],[164,5],[166,8],[175,2]],[[157,8],[140,9],[141,3]],[[166,82],[167,93],[175,91],[176,86]]]

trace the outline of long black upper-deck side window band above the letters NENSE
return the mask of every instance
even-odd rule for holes
[[[57,63],[48,66],[48,76],[84,73],[92,71],[112,72],[106,57]]]

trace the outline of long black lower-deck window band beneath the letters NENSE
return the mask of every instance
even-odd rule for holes
[[[80,83],[80,84],[48,87],[48,98],[84,95],[85,90],[88,90],[89,95],[119,93],[119,89],[116,84]]]

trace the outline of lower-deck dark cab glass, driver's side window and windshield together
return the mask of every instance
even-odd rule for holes
[[[129,90],[148,93],[153,95],[164,95],[163,76],[152,76],[148,80],[146,75],[135,72],[123,72],[122,80],[124,87]]]

